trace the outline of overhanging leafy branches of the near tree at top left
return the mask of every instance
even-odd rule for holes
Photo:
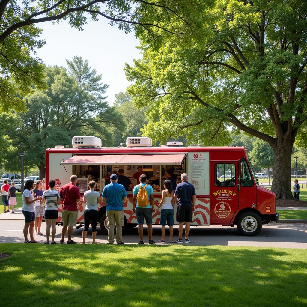
[[[182,37],[191,31],[192,12],[201,11],[202,0],[163,2],[144,0],[33,0],[0,1],[0,111],[25,110],[25,101],[15,95],[46,87],[44,65],[36,57],[37,49],[46,42],[39,37],[43,22],[58,23],[68,20],[69,24],[83,30],[87,19],[97,21],[99,17],[117,25],[124,32],[135,31],[136,35],[146,33],[148,41],[160,42],[163,30]],[[174,25],[184,21],[175,30]],[[193,22],[195,24],[195,21]],[[59,33],[60,35],[60,33]]]

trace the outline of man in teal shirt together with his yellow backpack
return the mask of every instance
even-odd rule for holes
[[[153,241],[153,228],[152,228],[152,212],[153,208],[153,188],[151,185],[146,185],[146,175],[140,176],[140,184],[136,185],[133,189],[132,198],[132,212],[136,213],[138,220],[138,235],[140,236],[140,242],[138,244],[144,244],[143,240],[143,225],[144,219],[147,225],[147,232],[149,237],[149,244],[154,244]]]

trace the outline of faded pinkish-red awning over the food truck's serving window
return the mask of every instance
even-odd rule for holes
[[[106,155],[75,155],[61,165],[127,165],[127,164],[182,164],[185,153],[177,154],[106,154]]]

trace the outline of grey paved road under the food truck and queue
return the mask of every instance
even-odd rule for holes
[[[0,220],[0,243],[23,242],[24,221]],[[41,232],[45,233],[45,223],[42,224]],[[153,239],[157,242],[160,237],[160,227],[153,226]],[[177,226],[174,227],[174,239],[178,238]],[[56,240],[60,240],[61,226],[56,226]],[[146,227],[144,227],[146,229]],[[107,236],[102,235],[97,228],[97,241],[107,243]],[[91,231],[91,228],[89,228]],[[146,233],[146,231],[145,231]],[[167,231],[168,234],[168,231]],[[228,246],[257,246],[257,247],[290,247],[307,249],[307,230],[305,224],[276,224],[263,225],[262,231],[255,237],[239,235],[236,227],[223,226],[200,226],[191,227],[189,236],[191,243],[197,245],[228,245]],[[45,235],[35,236],[40,242],[45,241]],[[82,228],[74,229],[73,239],[82,241]],[[166,236],[168,239],[168,236]],[[65,240],[67,240],[65,238]],[[139,241],[137,228],[129,229],[123,237],[125,243],[136,244]],[[145,236],[145,243],[147,237]],[[87,242],[91,243],[91,233],[88,233]],[[173,243],[177,244],[177,243]]]

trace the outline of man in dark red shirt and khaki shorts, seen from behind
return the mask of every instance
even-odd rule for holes
[[[72,175],[70,177],[70,182],[67,185],[63,185],[60,188],[60,196],[63,201],[62,204],[62,238],[60,239],[60,243],[64,243],[64,237],[68,228],[68,240],[67,244],[76,244],[77,242],[72,240],[72,231],[73,227],[77,225],[78,219],[78,207],[77,203],[80,201],[80,190],[76,187],[78,182],[78,177],[76,175]]]

